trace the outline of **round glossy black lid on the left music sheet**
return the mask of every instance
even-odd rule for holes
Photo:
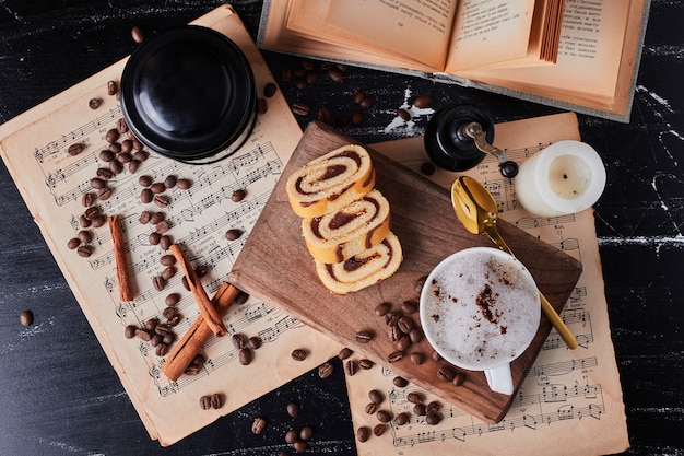
[[[121,74],[121,109],[150,149],[182,162],[205,161],[251,130],[253,73],[226,36],[193,25],[176,28],[132,54]]]

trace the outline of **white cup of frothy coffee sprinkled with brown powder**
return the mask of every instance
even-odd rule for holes
[[[493,391],[514,391],[510,363],[539,329],[541,304],[530,271],[511,255],[472,247],[445,258],[421,292],[421,324],[451,364],[484,371]]]

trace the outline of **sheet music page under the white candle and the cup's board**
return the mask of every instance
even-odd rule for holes
[[[518,163],[553,142],[580,140],[574,114],[500,124],[495,133],[494,144]],[[373,148],[416,172],[427,161],[421,138]],[[464,174],[484,183],[497,201],[502,218],[582,262],[582,274],[561,314],[579,347],[567,349],[552,330],[510,410],[497,424],[484,423],[415,385],[394,387],[394,374],[387,370],[361,370],[347,375],[355,429],[373,429],[379,423],[375,414],[365,412],[372,389],[382,391],[385,400],[380,407],[394,417],[403,411],[410,414],[409,423],[397,425],[392,421],[384,435],[357,442],[358,454],[589,456],[623,452],[629,444],[593,211],[556,218],[531,215],[519,207],[511,180],[502,177],[493,156]],[[431,178],[450,188],[456,176],[437,171]],[[456,215],[453,220],[459,223]],[[445,257],[448,254],[447,248]],[[426,424],[424,417],[413,413],[413,404],[406,400],[411,391],[422,393],[425,404],[437,400],[441,405],[443,420],[438,424]]]

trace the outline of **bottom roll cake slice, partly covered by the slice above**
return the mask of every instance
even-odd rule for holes
[[[347,294],[391,277],[402,259],[399,238],[390,232],[379,244],[345,261],[333,265],[316,261],[316,273],[331,292]]]

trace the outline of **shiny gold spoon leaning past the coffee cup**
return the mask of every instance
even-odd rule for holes
[[[496,201],[482,184],[472,177],[460,176],[451,186],[451,203],[456,215],[465,226],[465,230],[473,234],[485,234],[504,252],[515,256],[506,245],[504,238],[496,230],[496,218],[498,210]],[[570,349],[577,348],[577,340],[565,323],[561,319],[555,308],[546,301],[546,297],[539,292],[542,303],[542,311],[558,335]]]

